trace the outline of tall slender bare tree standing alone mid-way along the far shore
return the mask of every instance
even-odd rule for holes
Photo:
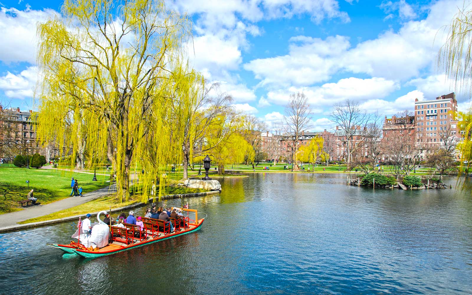
[[[311,126],[312,112],[308,105],[308,97],[303,93],[290,94],[290,101],[285,107],[285,122],[290,148],[297,162],[299,139],[302,132]],[[295,166],[295,169],[296,166]]]

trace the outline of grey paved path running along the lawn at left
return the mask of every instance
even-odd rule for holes
[[[0,227],[4,228],[8,226],[17,225],[17,222],[72,208],[85,202],[89,202],[107,194],[113,193],[116,193],[115,185],[113,185],[111,189],[108,186],[103,187],[91,193],[84,194],[84,196],[82,197],[67,197],[65,199],[52,202],[46,205],[29,206],[20,211],[0,214]],[[41,202],[41,200],[39,200],[39,202]]]

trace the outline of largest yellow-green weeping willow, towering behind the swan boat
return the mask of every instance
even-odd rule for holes
[[[139,165],[145,200],[180,149],[168,124],[182,84],[172,70],[190,21],[161,0],[65,0],[61,12],[38,25],[38,138],[76,155],[85,134],[92,163],[112,162],[120,201]]]

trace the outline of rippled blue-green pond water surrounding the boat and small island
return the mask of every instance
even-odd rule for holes
[[[45,245],[70,241],[70,222],[1,234],[0,294],[472,293],[470,188],[345,182],[225,178],[221,194],[183,200],[208,214],[200,231],[94,260]]]

